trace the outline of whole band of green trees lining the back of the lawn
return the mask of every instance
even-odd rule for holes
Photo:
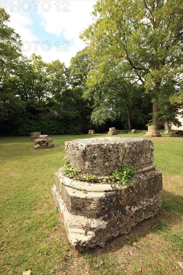
[[[98,0],[94,21],[81,35],[87,46],[68,67],[35,53],[25,57],[20,36],[0,8],[1,134],[178,123],[182,5],[181,0]]]

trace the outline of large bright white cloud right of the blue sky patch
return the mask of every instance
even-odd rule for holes
[[[79,35],[92,22],[90,13],[95,3],[96,0],[54,0],[48,12],[39,5],[38,13],[43,18],[42,24],[47,32],[62,34],[66,40],[72,40],[78,51],[84,47]]]

